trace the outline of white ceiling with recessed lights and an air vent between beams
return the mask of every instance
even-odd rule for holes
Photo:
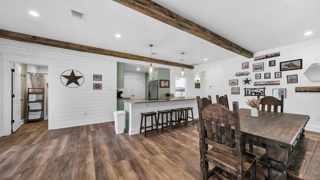
[[[320,0],[153,1],[253,53],[320,37]],[[181,63],[183,51],[189,65],[239,56],[112,0],[1,0],[0,29],[146,57],[153,44],[153,58]]]

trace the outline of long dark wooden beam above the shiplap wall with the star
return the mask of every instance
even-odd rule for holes
[[[23,42],[49,45],[49,46],[53,46],[53,47],[66,48],[66,49],[71,49],[71,50],[77,50],[77,51],[83,51],[83,52],[90,52],[90,53],[96,53],[96,54],[109,55],[109,56],[114,56],[114,57],[121,57],[121,58],[127,58],[127,59],[132,59],[132,60],[140,60],[140,61],[150,62],[150,57],[144,57],[144,56],[140,56],[140,55],[134,55],[134,54],[118,52],[118,51],[102,49],[102,48],[96,48],[96,47],[80,45],[80,44],[75,44],[75,43],[70,43],[70,42],[63,42],[63,41],[59,41],[59,40],[37,37],[37,36],[33,36],[33,35],[12,32],[12,31],[2,30],[2,29],[0,29],[0,37],[12,39],[12,40],[23,41]],[[182,67],[181,63],[170,62],[167,60],[161,60],[161,59],[156,59],[156,58],[152,58],[152,63]],[[194,68],[192,65],[186,65],[186,64],[183,64],[183,67],[189,68],[189,69]]]

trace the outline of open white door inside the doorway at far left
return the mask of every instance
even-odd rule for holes
[[[21,67],[13,63],[12,72],[12,132],[15,132],[21,125]]]

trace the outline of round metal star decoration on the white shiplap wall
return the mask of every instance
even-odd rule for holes
[[[73,69],[68,69],[62,72],[60,80],[63,85],[71,88],[78,87],[84,82],[82,73]]]

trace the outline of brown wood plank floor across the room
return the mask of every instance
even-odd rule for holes
[[[0,137],[0,179],[201,179],[199,157],[192,123],[144,137],[115,134],[113,122],[47,130],[43,120]],[[257,163],[257,179],[263,179],[260,168]]]

